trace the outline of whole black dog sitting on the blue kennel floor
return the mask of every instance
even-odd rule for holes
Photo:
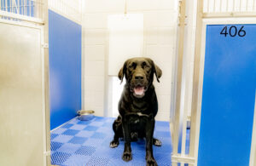
[[[154,117],[158,111],[158,102],[154,91],[154,74],[157,81],[162,75],[158,66],[149,58],[126,60],[119,71],[121,82],[126,83],[119,100],[119,117],[113,122],[113,140],[110,147],[119,145],[119,138],[125,139],[123,160],[130,161],[131,141],[146,138],[147,165],[157,165],[153,156],[154,146],[161,146],[160,140],[154,139]]]

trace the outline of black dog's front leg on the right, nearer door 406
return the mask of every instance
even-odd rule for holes
[[[154,134],[154,118],[148,118],[146,123],[146,161],[147,166],[156,166],[157,163],[153,156],[153,134]]]

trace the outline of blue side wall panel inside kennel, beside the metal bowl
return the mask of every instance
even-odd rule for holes
[[[82,27],[49,10],[50,129],[81,109]]]

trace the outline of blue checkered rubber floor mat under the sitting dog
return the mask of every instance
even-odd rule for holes
[[[122,160],[124,141],[110,148],[113,140],[113,117],[95,117],[90,121],[74,118],[51,132],[51,163],[66,166],[145,166],[145,140],[131,142],[132,160]],[[160,166],[172,165],[172,140],[169,123],[156,121],[154,137],[162,146],[153,146],[154,159]]]

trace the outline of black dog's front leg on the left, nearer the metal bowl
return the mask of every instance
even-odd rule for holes
[[[131,155],[131,129],[127,118],[122,119],[123,133],[125,137],[125,149],[123,153],[123,160],[128,162],[132,159]]]

